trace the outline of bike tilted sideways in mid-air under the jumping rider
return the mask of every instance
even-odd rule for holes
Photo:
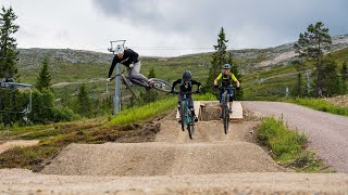
[[[144,87],[147,90],[156,89],[156,90],[163,91],[163,92],[171,92],[171,90],[172,90],[172,84],[165,80],[158,79],[158,78],[150,78],[149,79],[150,84],[149,84],[145,80],[133,78],[133,77],[126,77],[123,73],[124,72],[112,77],[111,80],[113,80],[115,77],[120,76],[122,82],[126,86],[126,88],[130,91],[132,95],[135,99],[138,99],[138,96],[135,93],[135,91],[132,89],[134,87],[134,84],[139,86],[139,87]]]

